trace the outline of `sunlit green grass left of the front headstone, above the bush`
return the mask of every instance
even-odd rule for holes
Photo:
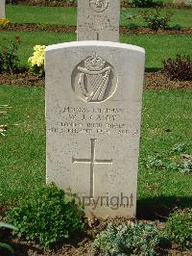
[[[0,105],[9,105],[0,124],[0,200],[17,200],[44,183],[44,90],[0,86]]]

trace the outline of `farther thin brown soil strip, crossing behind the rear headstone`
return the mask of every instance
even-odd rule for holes
[[[57,33],[75,33],[76,26],[62,26],[62,25],[43,25],[34,23],[11,23],[6,27],[0,27],[0,31],[52,31]],[[124,35],[144,35],[144,34],[157,34],[157,35],[192,35],[192,28],[183,28],[180,30],[166,29],[154,31],[149,28],[140,27],[137,29],[129,29],[127,27],[120,27],[120,33]]]

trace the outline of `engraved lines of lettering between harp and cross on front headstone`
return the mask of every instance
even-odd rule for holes
[[[60,120],[49,128],[49,132],[60,136],[85,134],[132,137],[138,131],[132,131],[132,125],[124,123],[123,115],[126,114],[128,111],[124,109],[64,107],[60,110]]]

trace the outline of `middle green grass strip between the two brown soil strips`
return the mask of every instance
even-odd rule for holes
[[[76,40],[75,34],[56,34],[53,32],[0,32],[0,45],[7,45],[8,39],[13,39],[18,35],[21,39],[21,47],[18,56],[21,65],[26,66],[27,60],[33,54],[33,47],[36,44],[50,45],[64,41]],[[4,39],[6,38],[6,39]],[[146,67],[159,68],[161,61],[177,54],[192,55],[191,36],[186,35],[139,35],[121,36],[121,41],[139,45],[146,49]]]

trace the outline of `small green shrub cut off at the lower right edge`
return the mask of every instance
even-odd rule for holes
[[[166,222],[166,232],[180,248],[192,248],[192,209],[177,210]]]

